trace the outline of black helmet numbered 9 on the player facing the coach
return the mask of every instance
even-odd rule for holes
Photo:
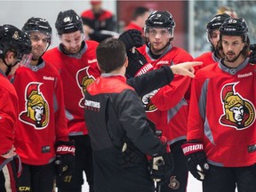
[[[175,28],[175,21],[172,18],[172,14],[168,11],[155,11],[152,12],[148,20],[145,21],[146,28]]]

